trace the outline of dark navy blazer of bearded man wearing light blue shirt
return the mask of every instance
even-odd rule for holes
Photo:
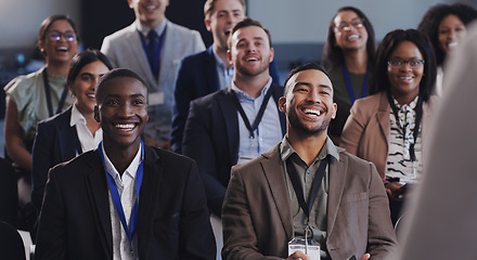
[[[283,87],[272,83],[270,88],[284,135],[286,118],[278,106]],[[238,117],[231,91],[220,90],[191,102],[182,144],[183,155],[197,161],[209,209],[217,216],[221,216],[230,170],[238,160]]]

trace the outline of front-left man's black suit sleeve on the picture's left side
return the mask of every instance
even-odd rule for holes
[[[55,169],[50,171],[38,229],[35,259],[66,259],[66,216],[61,183]]]

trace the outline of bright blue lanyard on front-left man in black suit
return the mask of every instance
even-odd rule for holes
[[[107,183],[109,184],[111,195],[113,197],[114,206],[119,214],[119,219],[121,221],[123,227],[125,229],[126,234],[128,235],[129,239],[129,249],[132,251],[132,236],[134,235],[136,227],[138,225],[138,212],[139,212],[139,192],[141,191],[142,185],[142,177],[143,177],[143,157],[144,157],[144,144],[141,140],[141,162],[139,164],[138,170],[136,172],[136,200],[134,206],[132,208],[131,212],[131,230],[129,231],[128,224],[126,223],[126,217],[125,217],[125,210],[123,209],[121,199],[119,197],[119,192],[117,191],[116,182],[114,181],[113,177],[107,172],[106,165],[104,162],[104,154],[103,154],[103,141],[100,142],[100,145],[98,147],[101,156],[101,160],[103,161],[104,171],[106,172],[107,177]]]

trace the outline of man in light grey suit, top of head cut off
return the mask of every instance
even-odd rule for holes
[[[101,51],[114,67],[134,70],[149,87],[145,142],[170,148],[173,83],[182,57],[205,50],[198,31],[169,22],[169,0],[128,0],[136,21],[104,38]]]

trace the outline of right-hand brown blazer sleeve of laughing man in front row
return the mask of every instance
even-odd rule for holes
[[[389,214],[388,198],[376,167],[370,162],[368,252],[372,259],[386,259],[397,247]],[[360,256],[361,257],[361,256]]]

